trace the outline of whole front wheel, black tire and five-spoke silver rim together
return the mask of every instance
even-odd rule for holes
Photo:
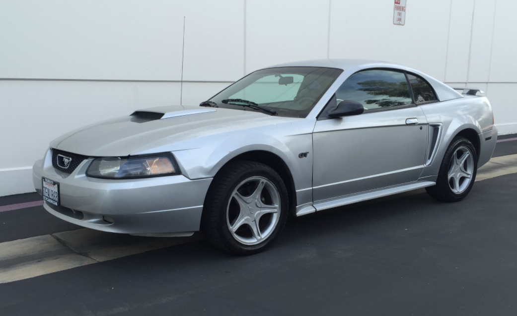
[[[225,166],[205,200],[202,231],[217,248],[235,255],[263,251],[282,231],[288,213],[282,178],[251,161]]]

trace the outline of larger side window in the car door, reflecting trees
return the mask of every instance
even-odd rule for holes
[[[412,104],[406,76],[389,70],[365,70],[351,75],[336,91],[338,103],[353,100],[365,110]]]

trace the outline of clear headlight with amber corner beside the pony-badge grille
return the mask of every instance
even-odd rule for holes
[[[178,175],[179,168],[171,153],[134,157],[95,159],[86,176],[107,179],[131,179]]]

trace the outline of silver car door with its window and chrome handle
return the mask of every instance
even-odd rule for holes
[[[404,72],[366,70],[337,90],[363,104],[363,114],[318,118],[313,132],[314,202],[417,181],[424,167],[428,125]],[[339,101],[338,101],[339,100]]]

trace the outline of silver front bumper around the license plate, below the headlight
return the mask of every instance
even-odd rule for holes
[[[41,194],[41,178],[59,182],[60,207],[44,202],[49,213],[83,227],[118,233],[164,234],[199,230],[203,202],[212,179],[185,176],[143,179],[86,177],[92,159],[72,173],[52,166],[52,150],[33,167]],[[108,221],[107,221],[108,220]]]

